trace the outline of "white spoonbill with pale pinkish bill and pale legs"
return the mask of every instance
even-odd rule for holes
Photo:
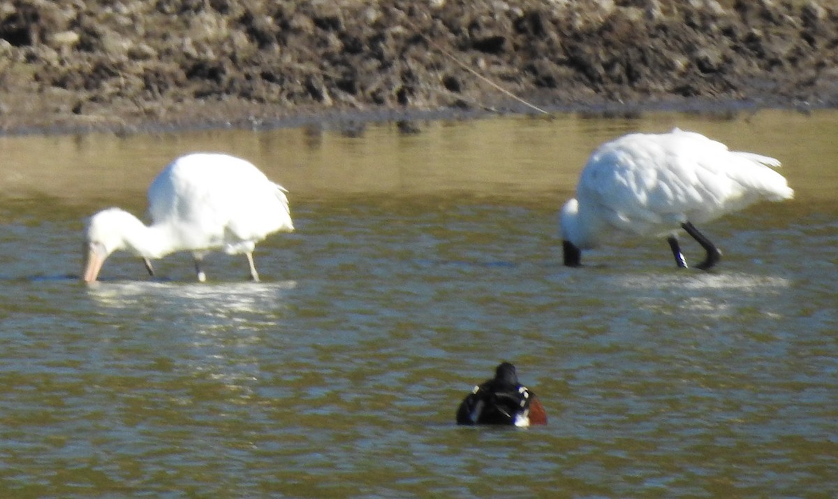
[[[182,156],[148,187],[151,226],[119,208],[91,217],[82,279],[96,281],[102,263],[117,250],[142,257],[152,275],[149,258],[189,251],[203,282],[204,254],[221,248],[228,254],[245,253],[251,278],[258,281],[253,263],[256,242],[273,232],[294,230],[286,192],[244,159],[220,153]]]

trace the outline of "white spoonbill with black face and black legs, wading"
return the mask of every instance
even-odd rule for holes
[[[631,133],[597,148],[577,184],[576,198],[561,208],[564,263],[581,264],[582,250],[622,233],[666,236],[675,263],[686,267],[675,232],[683,228],[705,249],[697,268],[722,257],[693,223],[704,223],[758,200],[794,196],[777,159],[727,150],[700,133]]]

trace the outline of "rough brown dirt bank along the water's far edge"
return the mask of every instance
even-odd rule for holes
[[[838,106],[831,0],[0,1],[0,131],[685,101]]]

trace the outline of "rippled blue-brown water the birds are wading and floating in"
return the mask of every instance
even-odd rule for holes
[[[827,497],[838,490],[838,116],[556,117],[0,138],[0,496]],[[679,125],[777,156],[792,202],[561,266],[597,143]],[[297,232],[76,281],[85,216],[168,159],[239,154]],[[686,243],[687,257],[701,249]],[[453,424],[499,361],[550,421]]]

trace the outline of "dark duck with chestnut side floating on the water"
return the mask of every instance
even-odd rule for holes
[[[547,413],[535,393],[518,382],[515,366],[503,362],[493,379],[474,387],[460,403],[457,424],[547,424]]]

